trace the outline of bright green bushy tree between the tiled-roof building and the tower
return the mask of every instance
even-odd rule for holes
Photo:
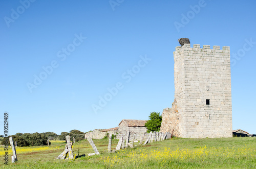
[[[147,133],[151,131],[159,131],[162,123],[162,116],[160,113],[151,112],[149,120],[145,123],[145,127],[147,129]]]

